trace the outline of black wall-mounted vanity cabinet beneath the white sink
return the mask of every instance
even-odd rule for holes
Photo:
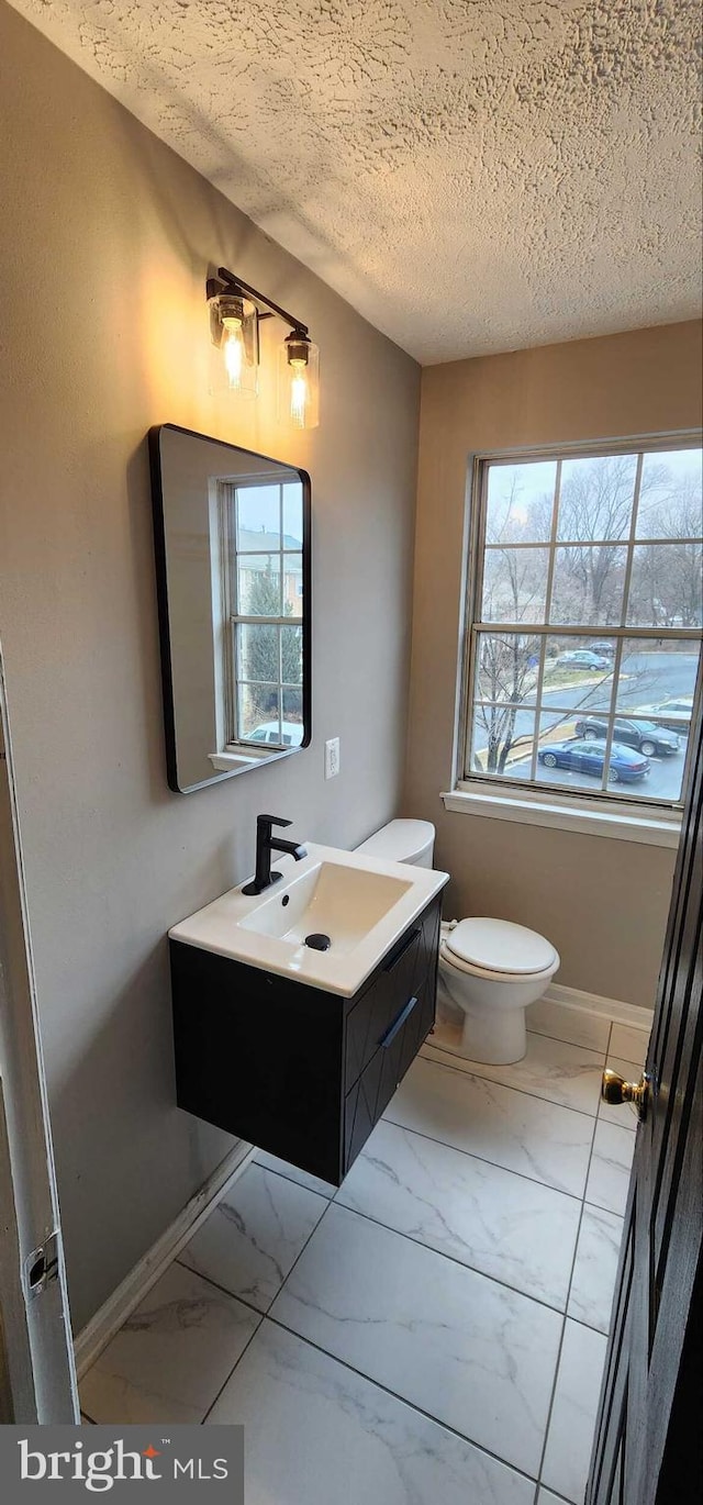
[[[352,998],[170,941],[179,1106],[339,1186],[432,1028],[440,911]]]

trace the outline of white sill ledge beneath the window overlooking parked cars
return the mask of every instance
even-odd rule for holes
[[[641,841],[646,846],[677,847],[680,816],[674,811],[632,813],[632,807],[593,808],[590,801],[533,799],[497,795],[495,789],[477,784],[443,793],[444,808],[462,816],[488,816],[494,820],[516,820],[525,826],[552,826],[557,831],[580,831],[589,837],[611,837],[616,841]]]

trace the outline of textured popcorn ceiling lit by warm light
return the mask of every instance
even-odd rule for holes
[[[698,0],[12,0],[423,363],[700,312]]]

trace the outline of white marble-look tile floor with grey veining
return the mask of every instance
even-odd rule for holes
[[[244,1422],[247,1505],[581,1505],[646,1041],[540,1001],[513,1067],[432,1037],[339,1189],[256,1151],[86,1419]]]

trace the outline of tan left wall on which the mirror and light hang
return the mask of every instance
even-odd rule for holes
[[[340,844],[396,813],[418,370],[5,5],[0,59],[0,635],[80,1327],[230,1145],[175,1105],[167,927],[251,871],[257,811]],[[313,435],[282,436],[271,385],[236,415],[208,396],[209,260],[310,324]],[[313,745],[188,796],[163,754],[163,421],[313,482]]]

